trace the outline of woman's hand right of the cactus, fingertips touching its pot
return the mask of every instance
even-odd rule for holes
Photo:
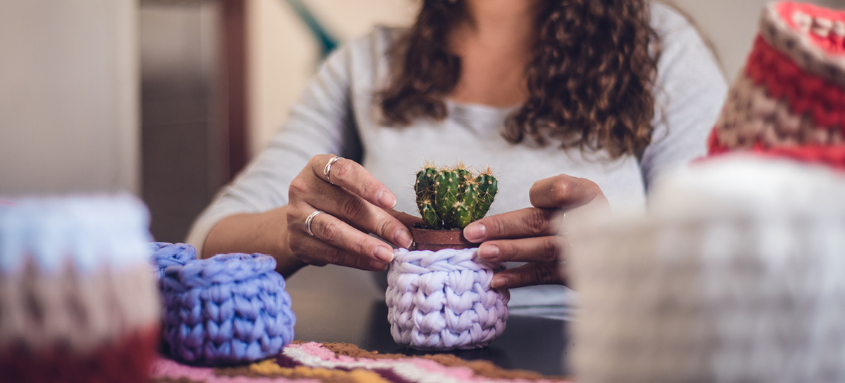
[[[493,262],[527,262],[496,273],[491,287],[513,289],[535,284],[565,284],[561,262],[569,241],[560,233],[564,217],[575,210],[609,210],[608,199],[595,182],[555,175],[529,191],[533,208],[482,218],[464,228],[464,237],[480,243],[478,256]]]

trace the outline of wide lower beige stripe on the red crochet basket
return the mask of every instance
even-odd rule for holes
[[[728,148],[766,148],[845,143],[841,129],[816,127],[810,116],[790,111],[787,100],[776,100],[753,80],[739,75],[728,92],[716,123],[719,143]]]

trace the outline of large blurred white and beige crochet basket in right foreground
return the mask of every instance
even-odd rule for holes
[[[845,178],[744,156],[572,231],[583,383],[845,381]]]

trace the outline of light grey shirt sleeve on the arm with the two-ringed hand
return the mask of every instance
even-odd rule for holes
[[[351,50],[345,46],[326,58],[269,146],[194,221],[186,242],[197,251],[202,252],[206,236],[222,218],[286,205],[291,181],[314,155],[360,159],[350,92]]]

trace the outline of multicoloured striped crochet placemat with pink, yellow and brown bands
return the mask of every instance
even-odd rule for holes
[[[156,383],[413,383],[413,382],[566,382],[560,376],[504,370],[488,361],[467,361],[448,353],[409,357],[382,354],[349,343],[288,345],[275,359],[237,367],[193,367],[161,358],[154,364]]]

